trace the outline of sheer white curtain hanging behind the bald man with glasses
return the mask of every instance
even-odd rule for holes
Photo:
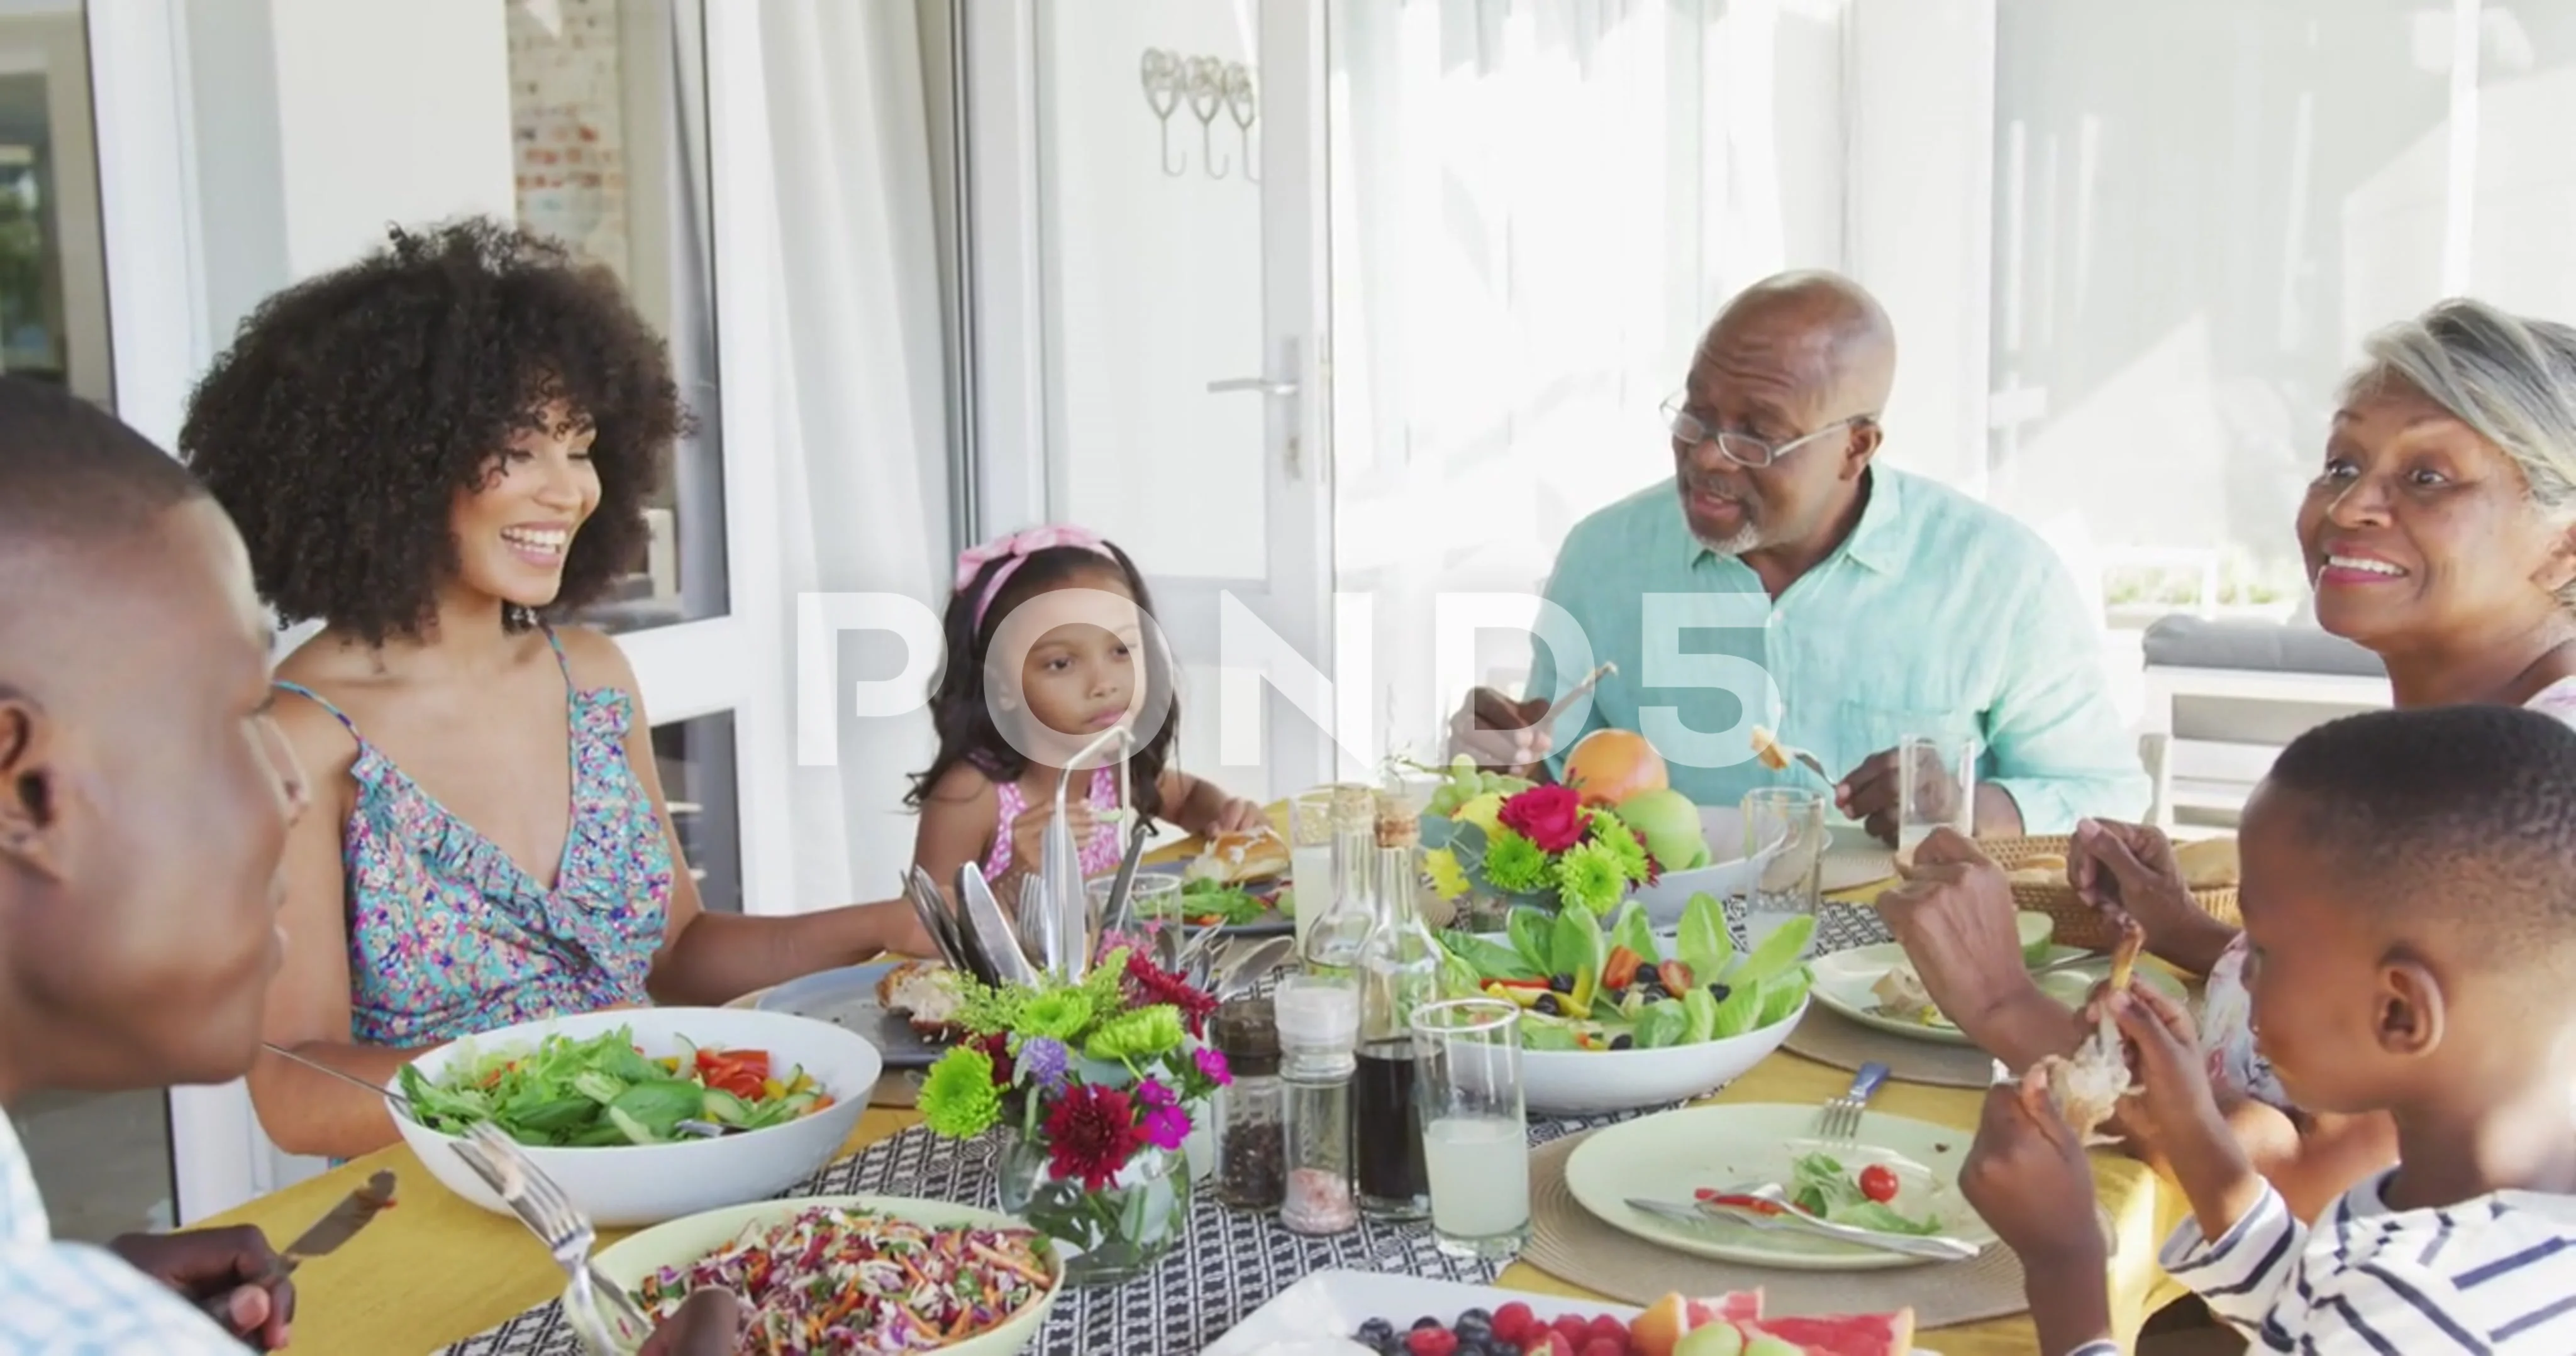
[[[1656,404],[1744,283],[1842,257],[1834,0],[1342,0],[1334,569],[1388,744],[1437,738],[1440,592],[1538,592],[1672,473]],[[1479,677],[1515,682],[1492,641]]]

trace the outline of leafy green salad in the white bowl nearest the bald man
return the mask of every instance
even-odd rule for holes
[[[1623,903],[1607,931],[1587,908],[1515,908],[1504,926],[1510,944],[1440,934],[1443,988],[1528,1009],[1520,1040],[1530,1050],[1659,1050],[1759,1032],[1806,1001],[1798,957],[1816,937],[1816,919],[1790,919],[1739,952],[1726,911],[1705,893],[1682,908],[1672,955],[1638,901]]]

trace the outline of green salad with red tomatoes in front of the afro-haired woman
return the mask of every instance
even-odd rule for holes
[[[448,1058],[438,1078],[402,1065],[412,1117],[443,1135],[492,1122],[523,1145],[600,1148],[667,1145],[680,1122],[768,1130],[832,1104],[804,1068],[770,1070],[765,1050],[701,1050],[680,1055],[636,1050],[618,1027],[590,1040],[549,1034],[533,1050],[474,1050]]]

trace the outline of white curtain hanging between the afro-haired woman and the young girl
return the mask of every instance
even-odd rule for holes
[[[914,5],[762,0],[760,39],[786,358],[783,605],[799,592],[902,592],[935,610],[951,558],[948,409]],[[842,690],[899,666],[891,636],[842,638]],[[904,774],[927,767],[930,749],[927,710],[842,718],[840,764],[796,769],[801,908],[894,895],[912,862]]]

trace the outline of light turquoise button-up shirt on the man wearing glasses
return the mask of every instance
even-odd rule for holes
[[[1891,466],[1870,468],[1868,494],[1852,535],[1777,602],[1752,566],[1690,535],[1669,479],[1577,522],[1548,576],[1528,690],[1558,697],[1600,661],[1618,674],[1589,710],[1558,718],[1551,767],[1564,772],[1589,731],[1638,731],[1674,790],[1736,805],[1765,785],[1832,795],[1798,764],[1754,762],[1754,726],[1837,780],[1919,733],[1976,738],[1978,780],[2012,793],[2030,834],[2141,818],[2151,787],[2110,700],[2102,628],[2056,551]]]

